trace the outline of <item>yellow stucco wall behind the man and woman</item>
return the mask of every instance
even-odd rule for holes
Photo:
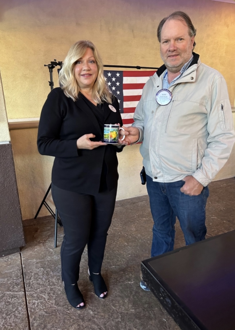
[[[39,117],[50,91],[44,64],[63,61],[79,39],[92,40],[104,64],[160,66],[157,26],[173,11],[187,12],[197,28],[195,51],[219,70],[235,98],[235,4],[211,0],[0,0],[0,69],[9,119]],[[57,68],[54,82],[57,86]],[[23,219],[35,215],[50,183],[51,157],[36,149],[37,129],[11,131]],[[119,157],[118,199],[146,194],[139,181],[139,146]],[[233,172],[233,161],[222,177]],[[232,174],[234,175],[234,174]],[[47,214],[42,210],[40,215]]]

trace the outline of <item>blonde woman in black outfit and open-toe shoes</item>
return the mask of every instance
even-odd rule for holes
[[[51,191],[64,227],[62,281],[69,303],[82,309],[85,301],[77,281],[86,244],[95,294],[107,297],[101,267],[117,193],[116,153],[123,147],[103,143],[103,127],[122,125],[122,119],[91,41],[80,40],[70,48],[59,79],[60,87],[44,103],[37,142],[41,154],[55,157]]]

